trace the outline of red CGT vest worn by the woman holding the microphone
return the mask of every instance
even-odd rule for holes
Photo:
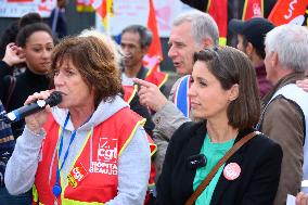
[[[123,120],[124,118],[127,120]],[[141,123],[140,116],[126,107],[94,127],[92,134],[89,131],[82,150],[75,158],[74,166],[69,171],[72,176],[67,181],[72,181],[73,185],[69,182],[65,188],[61,185],[62,193],[59,196],[59,201],[61,201],[59,204],[79,205],[88,202],[103,204],[114,198],[117,195],[118,157]],[[52,116],[44,125],[44,130],[47,136],[36,174],[34,204],[39,201],[40,204],[49,205],[54,204],[55,200],[52,188],[55,183],[59,162],[56,156],[53,157],[53,154],[60,133],[60,126]],[[92,162],[90,162],[90,149],[92,149]],[[53,163],[52,158],[54,158]],[[52,171],[49,182],[50,169]],[[78,182],[78,180],[80,181]]]

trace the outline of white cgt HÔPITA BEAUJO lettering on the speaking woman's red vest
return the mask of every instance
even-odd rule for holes
[[[90,163],[90,172],[117,175],[117,139],[100,138],[97,161]]]

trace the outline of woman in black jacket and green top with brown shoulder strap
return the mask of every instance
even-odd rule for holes
[[[253,138],[218,166],[195,204],[272,204],[282,150],[254,130],[260,104],[252,63],[230,47],[205,49],[194,59],[189,97],[201,121],[185,123],[172,136],[156,204],[184,204],[234,144],[248,137]]]

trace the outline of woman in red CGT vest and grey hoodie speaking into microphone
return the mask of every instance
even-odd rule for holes
[[[115,59],[95,37],[70,37],[54,48],[50,72],[62,102],[25,118],[5,171],[11,194],[34,188],[34,203],[46,205],[143,204],[150,146],[140,116],[118,95]]]

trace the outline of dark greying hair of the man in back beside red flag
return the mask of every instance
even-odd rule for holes
[[[150,47],[153,40],[153,35],[150,29],[142,25],[130,25],[123,29],[121,36],[125,33],[138,33],[140,36],[140,47],[142,49]]]

